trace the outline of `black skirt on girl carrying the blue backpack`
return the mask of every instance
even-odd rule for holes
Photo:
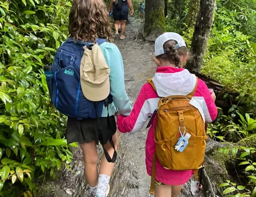
[[[77,119],[68,117],[66,140],[67,143],[90,143],[106,144],[117,132],[117,125],[114,116],[101,117],[97,119]]]

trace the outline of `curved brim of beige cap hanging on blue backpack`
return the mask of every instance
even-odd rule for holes
[[[102,101],[110,94],[109,76],[107,77],[106,82],[101,87],[92,87],[88,83],[81,80],[81,88],[83,91],[83,95],[89,101]]]

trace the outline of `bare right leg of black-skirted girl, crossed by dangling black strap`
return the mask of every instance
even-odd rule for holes
[[[118,132],[116,132],[113,137],[113,142],[115,145],[115,148],[117,150],[118,148]],[[112,145],[108,142],[107,144],[104,145],[105,149],[108,151],[109,156],[112,158],[114,154],[114,149]],[[102,155],[102,159],[100,162],[100,167],[99,167],[99,174],[107,175],[111,177],[112,170],[114,168],[115,163],[110,163],[107,161],[105,154]]]

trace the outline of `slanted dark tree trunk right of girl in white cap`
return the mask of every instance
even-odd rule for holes
[[[191,72],[199,72],[201,69],[203,56],[207,48],[207,42],[213,24],[215,2],[216,0],[200,0],[200,10],[190,50],[195,56],[193,60],[186,65],[186,68]]]

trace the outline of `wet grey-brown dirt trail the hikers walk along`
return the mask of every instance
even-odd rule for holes
[[[153,76],[156,64],[153,59],[153,44],[136,40],[142,24],[135,18],[129,18],[126,39],[116,39],[124,62],[125,88],[134,104],[138,91]],[[147,130],[141,129],[135,135],[119,136],[118,160],[111,179],[109,197],[148,197],[150,177],[145,167],[145,140]],[[100,150],[100,148],[99,148]],[[79,148],[74,149],[74,161],[70,169],[59,173],[58,179],[44,181],[38,197],[90,197],[89,188],[83,176],[83,159]],[[193,185],[191,187],[190,185]],[[195,183],[189,183],[186,190],[195,189]],[[190,192],[190,191],[189,191]],[[193,192],[194,193],[194,192]],[[181,195],[181,197],[185,197]]]

